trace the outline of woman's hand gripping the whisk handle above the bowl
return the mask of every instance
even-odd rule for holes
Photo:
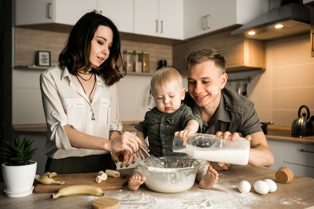
[[[141,143],[141,140],[134,134],[125,131],[122,134],[118,135],[116,138],[109,140],[110,150],[112,153],[120,151],[128,151],[130,155],[133,155],[138,150],[138,143]]]

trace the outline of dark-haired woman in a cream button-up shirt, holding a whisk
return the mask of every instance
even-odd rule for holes
[[[117,66],[119,59],[123,63],[120,45],[108,18],[87,13],[73,27],[59,65],[41,74],[46,171],[98,172],[116,169],[119,160],[121,167],[136,161],[132,154],[140,139],[121,134],[115,86],[123,77]]]

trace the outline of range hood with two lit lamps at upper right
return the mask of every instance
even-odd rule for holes
[[[275,28],[278,24],[282,28]],[[306,33],[309,30],[309,8],[302,4],[289,3],[264,13],[231,32],[231,35],[266,41]],[[249,35],[249,32],[255,32],[255,35]]]

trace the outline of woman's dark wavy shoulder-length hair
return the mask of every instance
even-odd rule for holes
[[[107,26],[112,30],[113,43],[108,59],[102,63],[99,68],[93,68],[92,71],[97,75],[103,75],[106,84],[111,86],[126,74],[120,51],[120,34],[111,20],[96,12],[85,14],[72,28],[66,46],[59,55],[59,63],[61,69],[67,67],[69,72],[73,75],[75,75],[78,70],[87,71],[87,69],[91,67],[89,61],[91,41],[100,25]],[[120,74],[119,66],[117,65],[119,58],[123,67],[123,74]]]

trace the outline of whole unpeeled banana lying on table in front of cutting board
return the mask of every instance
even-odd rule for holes
[[[94,196],[102,196],[104,194],[103,190],[98,186],[93,185],[71,185],[65,186],[59,189],[58,193],[51,194],[51,198],[55,199],[59,196],[71,196],[71,195],[94,195]]]

